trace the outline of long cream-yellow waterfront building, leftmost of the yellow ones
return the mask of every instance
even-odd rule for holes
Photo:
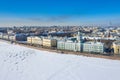
[[[42,38],[38,36],[27,37],[27,43],[42,45]]]

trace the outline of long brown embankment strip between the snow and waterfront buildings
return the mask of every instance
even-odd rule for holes
[[[4,41],[10,44],[9,41],[5,41],[5,40],[0,40],[0,41]],[[37,50],[41,50],[41,51],[48,51],[48,52],[55,52],[55,53],[59,53],[59,54],[72,54],[72,55],[82,55],[82,56],[87,56],[87,57],[95,57],[95,58],[104,58],[104,59],[112,59],[112,60],[120,60],[120,55],[110,55],[110,56],[106,56],[106,55],[101,55],[101,54],[91,54],[91,53],[81,53],[81,52],[72,52],[72,51],[61,51],[61,50],[56,50],[56,49],[50,49],[50,48],[43,48],[43,47],[36,47],[36,46],[31,46],[31,45],[25,45],[25,44],[18,44],[15,43],[17,45],[20,46],[24,46],[24,47],[28,47],[28,48],[33,48],[33,49],[37,49]]]

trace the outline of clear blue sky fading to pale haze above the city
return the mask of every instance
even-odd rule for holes
[[[120,0],[0,0],[0,27],[119,25]]]

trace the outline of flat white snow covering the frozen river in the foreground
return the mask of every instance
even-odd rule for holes
[[[0,80],[120,80],[120,61],[0,42]]]

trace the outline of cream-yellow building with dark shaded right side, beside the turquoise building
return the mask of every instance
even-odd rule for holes
[[[57,46],[57,40],[56,39],[43,39],[43,46],[45,47],[56,47]]]

